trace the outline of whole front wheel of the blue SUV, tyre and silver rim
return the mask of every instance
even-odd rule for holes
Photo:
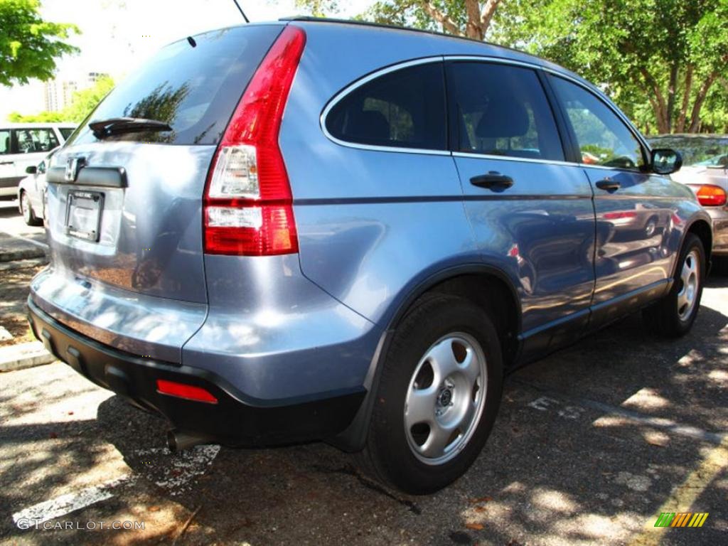
[[[642,314],[647,328],[665,337],[679,337],[688,333],[700,308],[704,278],[703,242],[695,234],[689,233],[678,257],[670,292]]]

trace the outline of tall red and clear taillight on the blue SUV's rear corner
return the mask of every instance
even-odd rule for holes
[[[283,29],[225,130],[205,188],[206,253],[298,252],[293,198],[278,133],[305,44],[301,28]]]

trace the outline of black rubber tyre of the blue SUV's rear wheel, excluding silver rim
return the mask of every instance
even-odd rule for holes
[[[485,357],[486,394],[480,403],[482,409],[479,418],[477,416],[472,418],[471,424],[467,425],[467,434],[462,432],[458,425],[454,433],[456,440],[448,443],[448,446],[458,446],[457,450],[453,449],[451,454],[446,455],[452,458],[441,464],[426,464],[414,454],[411,435],[405,432],[407,430],[405,398],[410,392],[409,389],[417,388],[411,381],[415,381],[413,378],[415,371],[422,370],[419,364],[427,351],[432,349],[438,340],[450,334],[456,336],[457,333],[462,333],[467,339],[473,340],[471,348],[474,349],[474,354],[482,354]],[[393,336],[382,363],[384,368],[376,392],[367,443],[363,452],[359,454],[360,465],[363,470],[373,474],[374,478],[405,493],[428,494],[448,486],[463,475],[478,457],[490,435],[502,392],[501,347],[496,329],[483,309],[464,298],[437,294],[428,296],[416,304],[397,327]],[[475,342],[480,345],[482,353],[478,353]],[[456,343],[452,345],[453,352],[455,349]],[[480,360],[478,362],[478,369],[482,370]],[[478,378],[481,377],[482,373]],[[480,381],[482,385],[482,379],[476,381]],[[467,400],[467,403],[471,403],[467,387],[460,391],[458,388],[453,387],[452,400]],[[474,387],[472,390],[474,405],[480,400],[477,395],[479,389],[480,387]],[[469,394],[459,395],[458,392]],[[438,404],[443,402],[442,393],[440,390]],[[442,411],[438,408],[440,406],[436,405],[434,411]],[[475,415],[478,415],[477,412]],[[460,432],[459,437],[457,432]],[[430,432],[426,434],[429,435]]]

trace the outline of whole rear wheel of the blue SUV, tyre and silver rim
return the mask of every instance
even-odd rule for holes
[[[493,427],[502,389],[496,330],[469,301],[430,296],[397,328],[383,365],[361,458],[402,491],[437,491],[470,467]]]

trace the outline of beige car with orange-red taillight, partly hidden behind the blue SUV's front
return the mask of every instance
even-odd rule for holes
[[[728,274],[728,135],[661,135],[650,142],[681,152],[683,167],[672,178],[690,186],[713,218],[715,266]]]

